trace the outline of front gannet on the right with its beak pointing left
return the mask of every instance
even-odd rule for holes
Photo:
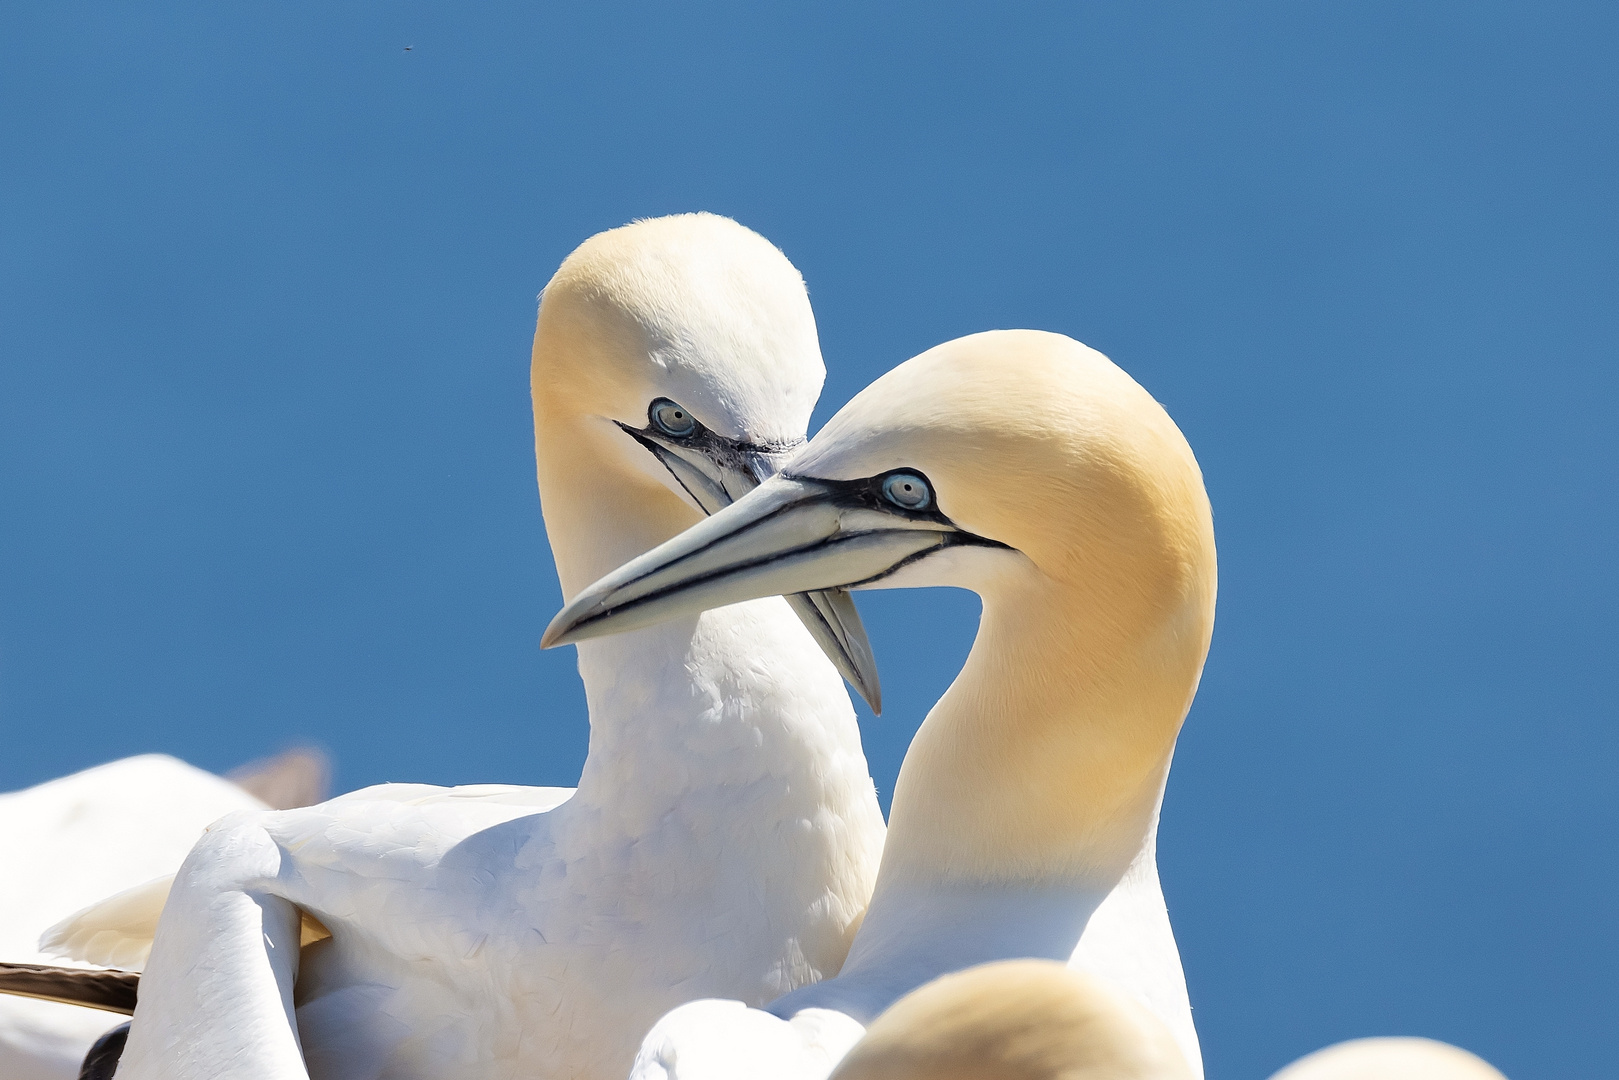
[[[1201,1075],[1154,836],[1214,620],[1214,531],[1180,431],[1101,353],[1001,330],[900,364],[782,474],[575,596],[544,643],[937,585],[978,593],[978,638],[900,767],[842,972],[769,1014],[674,1010],[635,1077],[826,1075],[907,991],[1013,957],[1122,986]]]

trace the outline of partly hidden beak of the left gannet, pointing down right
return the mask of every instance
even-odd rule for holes
[[[617,423],[617,421],[615,421]],[[776,476],[798,449],[764,449],[709,434],[701,444],[688,445],[669,439],[652,427],[618,424],[630,437],[662,461],[704,513],[717,513],[737,502],[759,483]],[[848,680],[871,711],[882,714],[882,683],[871,640],[860,622],[853,597],[842,589],[793,593],[787,604],[798,615],[810,636]],[[560,644],[560,643],[557,643]]]

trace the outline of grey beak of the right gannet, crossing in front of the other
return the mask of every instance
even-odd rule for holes
[[[994,541],[942,517],[887,512],[863,481],[777,476],[573,597],[541,648],[649,627],[759,596],[835,594],[954,544]]]

